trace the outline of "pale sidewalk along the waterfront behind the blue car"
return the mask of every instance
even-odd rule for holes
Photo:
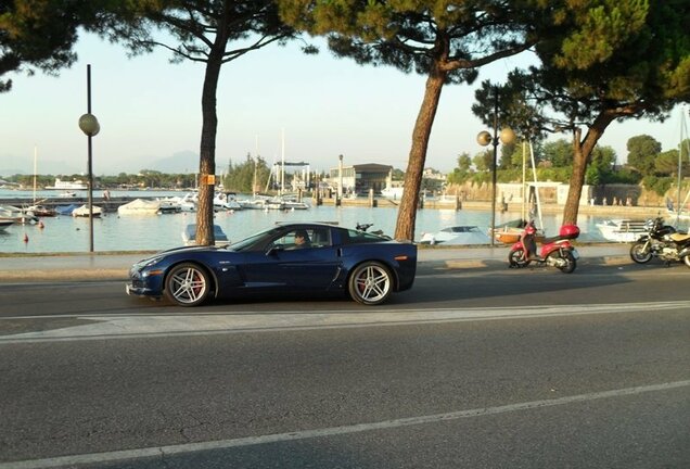
[[[582,263],[625,264],[628,244],[582,244]],[[420,248],[418,262],[452,268],[498,268],[507,266],[509,246]],[[152,253],[151,253],[152,254]],[[63,255],[0,255],[0,282],[48,280],[126,280],[129,268],[149,253],[94,253]]]

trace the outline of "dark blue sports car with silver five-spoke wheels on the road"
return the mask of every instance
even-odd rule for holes
[[[346,292],[378,305],[408,290],[417,245],[328,224],[277,225],[228,246],[161,252],[135,264],[127,293],[180,306],[246,293]]]

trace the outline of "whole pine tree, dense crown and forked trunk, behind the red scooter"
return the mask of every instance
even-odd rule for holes
[[[552,3],[550,18],[536,46],[541,65],[511,73],[501,94],[520,96],[516,101],[537,111],[522,124],[533,131],[572,132],[573,179],[563,219],[576,223],[586,168],[608,126],[624,118],[663,121],[690,100],[690,4],[562,1]]]

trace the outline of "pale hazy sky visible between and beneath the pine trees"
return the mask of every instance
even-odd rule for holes
[[[87,138],[78,118],[87,112],[87,64],[91,65],[93,174],[145,169],[180,152],[199,155],[204,64],[169,63],[170,53],[128,58],[118,45],[82,34],[78,62],[59,76],[11,74],[13,88],[0,93],[0,176],[87,172]],[[474,86],[446,86],[432,130],[426,167],[444,173],[463,152],[482,151],[476,135],[486,127],[472,115],[474,89],[501,81],[525,63],[510,58],[485,66]],[[296,43],[271,45],[223,65],[218,86],[216,167],[241,163],[247,153],[269,164],[307,162],[314,170],[379,163],[405,170],[425,77],[393,67],[360,66],[321,47],[305,55]],[[664,151],[678,147],[677,109],[664,124],[614,123],[600,140],[625,162],[626,142],[646,134]],[[284,136],[284,139],[283,139]],[[284,141],[284,147],[283,147]],[[284,150],[283,150],[284,149]],[[196,173],[197,157],[189,173]],[[42,169],[42,170],[41,170]]]

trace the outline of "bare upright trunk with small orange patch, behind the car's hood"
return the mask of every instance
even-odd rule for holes
[[[202,92],[202,135],[199,161],[199,206],[196,212],[196,244],[213,245],[214,238],[214,194],[216,175],[216,90],[220,76],[221,54],[208,56],[204,89]]]

